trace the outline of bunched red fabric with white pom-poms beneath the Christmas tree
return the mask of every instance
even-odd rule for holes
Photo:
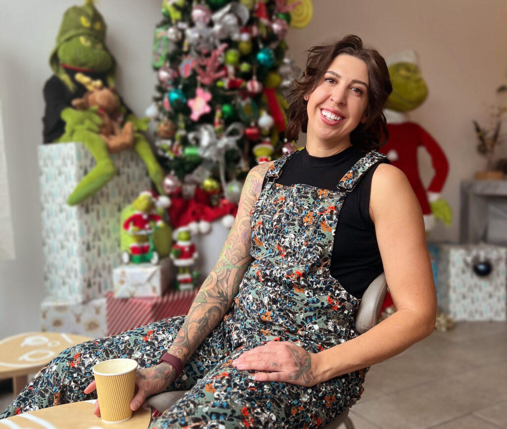
[[[194,198],[186,200],[181,194],[171,196],[171,205],[167,209],[173,228],[184,227],[191,222],[213,222],[225,215],[236,216],[238,206],[227,200],[221,200],[216,207],[211,206],[209,196],[196,188]]]

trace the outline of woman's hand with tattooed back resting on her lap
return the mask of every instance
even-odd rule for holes
[[[283,381],[310,387],[319,382],[316,356],[291,342],[269,341],[245,351],[232,365],[239,370],[262,371],[255,374],[257,381]]]

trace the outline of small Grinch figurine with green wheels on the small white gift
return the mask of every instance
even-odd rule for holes
[[[160,257],[155,250],[152,234],[155,232],[155,228],[164,226],[164,222],[156,208],[168,207],[169,198],[159,197],[152,191],[143,191],[132,205],[135,212],[123,223],[123,229],[128,231],[132,237],[132,243],[129,252],[123,252],[122,261],[125,264],[151,262],[157,265]],[[153,222],[155,222],[155,228],[152,226]]]

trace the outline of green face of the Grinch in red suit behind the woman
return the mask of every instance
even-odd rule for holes
[[[387,99],[387,109],[407,112],[420,106],[428,96],[428,88],[419,67],[408,62],[398,62],[388,68],[392,93]]]

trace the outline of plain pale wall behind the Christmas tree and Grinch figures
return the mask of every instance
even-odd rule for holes
[[[0,262],[0,338],[39,329],[42,283],[37,147],[42,142],[42,88],[51,76],[48,56],[64,10],[76,0],[0,0],[0,98],[8,162],[16,260]],[[481,169],[472,119],[485,119],[482,103],[495,102],[507,83],[507,2],[504,0],[313,0],[314,19],[291,30],[287,43],[300,66],[309,47],[356,33],[387,56],[415,49],[429,87],[411,114],[447,153],[451,169],[443,196],[456,220],[432,237],[457,240],[459,183]],[[107,45],[119,63],[118,89],[142,115],[156,82],[151,69],[153,31],[161,0],[101,0]],[[507,156],[507,145],[502,148]],[[427,157],[421,164],[430,176]],[[0,202],[1,203],[1,202]],[[0,237],[0,239],[2,239]]]

